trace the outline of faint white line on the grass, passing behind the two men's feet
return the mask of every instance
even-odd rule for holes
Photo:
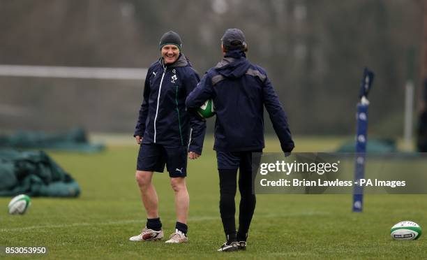
[[[286,216],[312,216],[312,215],[331,215],[328,212],[295,212],[295,213],[283,213],[283,214],[265,214],[257,215],[257,219],[261,218],[271,218],[271,217],[286,217]],[[189,222],[202,222],[207,220],[220,220],[220,216],[211,217],[211,216],[200,216],[200,217],[189,217]],[[71,223],[71,224],[56,224],[56,225],[45,225],[45,226],[24,226],[19,228],[10,228],[10,229],[0,229],[0,232],[10,232],[10,231],[27,231],[33,229],[63,229],[63,228],[72,228],[77,226],[112,226],[112,225],[121,225],[121,224],[133,224],[133,223],[142,223],[143,219],[128,219],[128,220],[118,220],[110,222],[100,222],[100,223]]]

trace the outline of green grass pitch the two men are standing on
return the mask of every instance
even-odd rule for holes
[[[297,138],[297,152],[334,150],[340,141]],[[45,246],[49,252],[43,259],[427,259],[424,236],[415,241],[389,236],[391,226],[403,220],[426,226],[424,195],[368,195],[363,213],[351,212],[350,194],[258,195],[248,250],[216,252],[224,235],[211,147],[208,137],[202,157],[189,161],[185,245],[128,241],[145,223],[134,178],[138,147],[116,144],[100,154],[49,152],[79,182],[80,198],[33,198],[22,216],[8,215],[10,198],[0,198],[0,246]],[[279,152],[279,147],[272,138],[265,151]],[[165,236],[175,222],[168,179],[167,173],[154,178]]]

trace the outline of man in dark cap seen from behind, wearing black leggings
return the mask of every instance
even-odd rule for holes
[[[263,68],[246,59],[244,33],[227,29],[221,38],[223,59],[209,69],[186,99],[189,110],[213,99],[216,111],[215,145],[220,179],[220,215],[227,241],[218,251],[246,250],[246,239],[253,212],[253,152],[264,148],[263,106],[267,108],[280,145],[286,154],[294,142],[287,117]],[[239,229],[236,232],[234,196],[239,169]]]

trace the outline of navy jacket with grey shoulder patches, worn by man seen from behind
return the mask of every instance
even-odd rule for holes
[[[213,99],[216,111],[215,145],[220,152],[243,152],[264,148],[264,117],[267,108],[283,152],[291,152],[294,142],[285,111],[267,73],[250,64],[241,50],[227,52],[224,59],[209,69],[186,99],[195,110]]]

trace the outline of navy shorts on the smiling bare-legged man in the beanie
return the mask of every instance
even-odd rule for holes
[[[165,164],[171,178],[186,177],[187,147],[167,146],[156,143],[140,146],[137,159],[137,171],[156,171],[163,173]]]

